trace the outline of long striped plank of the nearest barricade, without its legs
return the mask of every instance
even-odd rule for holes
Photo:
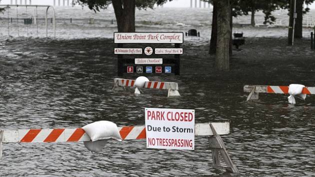
[[[212,123],[217,134],[229,133],[229,122]],[[122,139],[144,139],[145,127],[118,127]],[[196,123],[195,135],[213,135],[209,123]],[[82,128],[53,128],[53,129],[18,129],[3,130],[2,142],[78,142],[88,141],[89,136]]]

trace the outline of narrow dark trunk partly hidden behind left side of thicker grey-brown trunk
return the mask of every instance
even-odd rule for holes
[[[217,0],[213,0],[211,39],[210,39],[210,49],[209,49],[210,54],[215,54],[215,51],[216,51],[216,35],[217,35]]]

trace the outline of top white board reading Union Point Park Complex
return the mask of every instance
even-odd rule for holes
[[[114,43],[183,43],[183,33],[114,32]]]

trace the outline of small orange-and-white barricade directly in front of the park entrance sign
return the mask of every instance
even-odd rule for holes
[[[115,90],[117,86],[125,87],[135,87],[135,80],[124,79],[124,78],[114,78],[114,84],[112,90]],[[167,97],[169,96],[180,96],[178,92],[178,84],[176,82],[163,82],[163,81],[145,81],[143,88],[155,88],[155,89],[166,89],[168,90]]]

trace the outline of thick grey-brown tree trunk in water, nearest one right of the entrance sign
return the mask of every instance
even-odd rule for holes
[[[230,2],[217,1],[217,40],[215,68],[229,70]]]

